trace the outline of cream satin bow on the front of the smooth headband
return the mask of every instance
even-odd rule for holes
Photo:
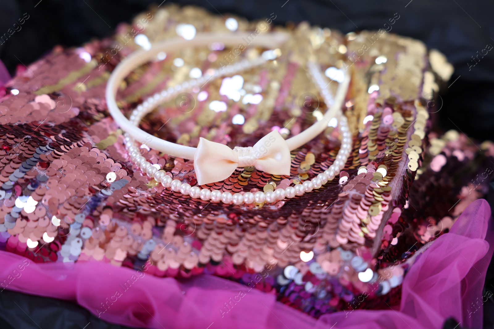
[[[261,138],[254,146],[234,149],[201,137],[194,154],[194,170],[199,185],[224,181],[236,168],[249,166],[272,175],[289,175],[290,164],[290,149],[277,130]]]

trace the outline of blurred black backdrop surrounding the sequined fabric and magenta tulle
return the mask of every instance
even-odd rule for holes
[[[11,74],[19,64],[28,65],[54,45],[77,46],[93,37],[110,36],[117,24],[129,22],[149,4],[162,0],[0,0],[0,36],[13,28],[25,13],[29,18],[5,42],[0,59]],[[163,5],[169,3],[165,0]],[[460,130],[472,138],[494,140],[494,49],[478,61],[473,57],[494,46],[494,1],[487,0],[193,0],[212,13],[235,13],[248,19],[277,15],[276,24],[308,21],[343,33],[377,30],[395,13],[400,19],[391,33],[422,40],[443,52],[454,65],[451,80],[442,86],[437,113],[439,131]],[[25,17],[27,17],[25,15]],[[3,44],[1,44],[3,43]],[[454,122],[454,123],[453,123]],[[488,273],[488,278],[492,275]],[[493,283],[489,281],[489,283]],[[88,312],[67,302],[0,292],[0,328],[38,328],[12,304],[16,300],[36,322],[46,328],[66,328],[61,319],[85,317],[89,328],[110,328]],[[14,305],[14,306],[12,306]],[[34,308],[44,311],[35,312]],[[494,302],[484,304],[484,328],[494,328]],[[8,319],[8,320],[7,320]],[[47,320],[51,322],[45,322]],[[82,324],[83,321],[77,321]],[[76,323],[76,322],[75,322]],[[79,325],[74,323],[74,327]],[[456,324],[454,324],[456,325]],[[453,328],[454,325],[451,327]],[[94,327],[93,327],[94,326]],[[41,326],[41,328],[45,328]],[[81,328],[83,325],[81,326]],[[113,326],[112,328],[121,328]],[[461,328],[458,326],[457,328]]]

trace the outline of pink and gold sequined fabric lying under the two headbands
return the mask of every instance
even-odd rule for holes
[[[40,263],[94,258],[145,267],[158,277],[213,274],[275,294],[316,318],[398,305],[414,253],[448,232],[486,192],[494,146],[431,130],[433,97],[452,73],[439,52],[384,30],[341,35],[276,23],[276,15],[248,22],[195,7],[151,8],[111,38],[56,47],[19,70],[0,90],[0,249]],[[304,67],[313,56],[332,84],[343,70],[352,77],[343,112],[353,147],[339,177],[300,197],[237,206],[165,189],[129,161],[104,97],[115,66],[156,40],[235,31],[254,37],[285,31],[291,39],[275,49],[272,64],[235,81],[211,79],[147,115],[140,127],[186,146],[197,146],[200,137],[251,146],[272,130],[294,136],[327,109]],[[127,76],[118,104],[128,114],[166,86],[265,50],[247,47],[237,55],[235,47],[213,42],[160,53]],[[255,192],[303,183],[335,161],[340,139],[329,122],[291,152],[289,176],[245,167],[202,187]],[[141,153],[197,185],[191,160],[145,145]]]

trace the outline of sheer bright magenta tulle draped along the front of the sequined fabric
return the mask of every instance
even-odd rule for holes
[[[431,329],[442,328],[450,317],[462,327],[481,328],[482,308],[475,313],[469,309],[482,299],[493,254],[490,216],[485,200],[474,201],[449,233],[416,258],[403,281],[399,310],[356,310],[314,319],[277,302],[273,295],[218,277],[178,281],[96,261],[29,261],[17,270],[21,275],[7,289],[76,301],[106,321],[143,328]],[[0,252],[0,278],[12,275],[23,261],[21,256]],[[130,279],[132,284],[125,286]]]

